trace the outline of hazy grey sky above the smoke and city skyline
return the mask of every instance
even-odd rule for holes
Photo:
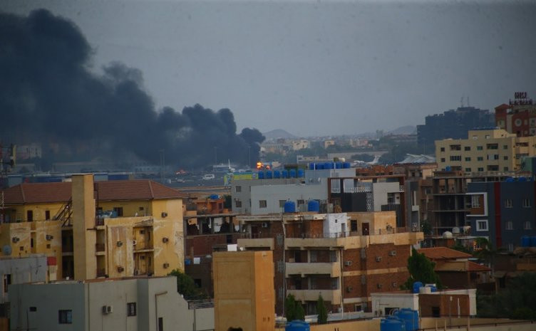
[[[228,107],[239,130],[354,134],[462,96],[536,99],[535,1],[0,1],[37,8],[80,26],[96,72],[140,68],[159,108]]]

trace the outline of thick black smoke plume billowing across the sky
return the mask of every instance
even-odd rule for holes
[[[158,164],[200,167],[256,162],[256,129],[237,135],[232,112],[201,105],[155,110],[140,70],[111,63],[90,69],[92,48],[71,21],[46,10],[0,13],[0,139],[40,142],[62,161],[135,155]]]

